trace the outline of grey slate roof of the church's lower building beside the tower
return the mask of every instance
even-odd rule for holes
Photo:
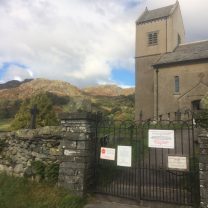
[[[179,45],[174,52],[164,54],[154,66],[208,59],[208,40]]]

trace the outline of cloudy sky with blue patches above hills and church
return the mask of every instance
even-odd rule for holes
[[[207,0],[180,0],[187,41],[208,39]],[[0,0],[0,82],[134,86],[135,21],[175,0]],[[200,14],[200,15],[198,15]]]

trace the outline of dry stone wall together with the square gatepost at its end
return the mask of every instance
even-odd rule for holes
[[[87,193],[94,181],[95,120],[91,113],[67,114],[58,127],[0,134],[0,172],[40,180],[56,164],[60,186]]]

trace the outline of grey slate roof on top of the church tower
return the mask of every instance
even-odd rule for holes
[[[149,22],[149,21],[169,17],[172,14],[172,12],[174,11],[176,5],[177,5],[177,3],[173,4],[173,5],[170,5],[170,6],[162,7],[162,8],[159,8],[159,9],[154,9],[154,10],[148,10],[146,8],[146,10],[139,17],[139,19],[137,20],[136,23],[137,24],[142,24],[142,23],[145,23],[145,22]]]

